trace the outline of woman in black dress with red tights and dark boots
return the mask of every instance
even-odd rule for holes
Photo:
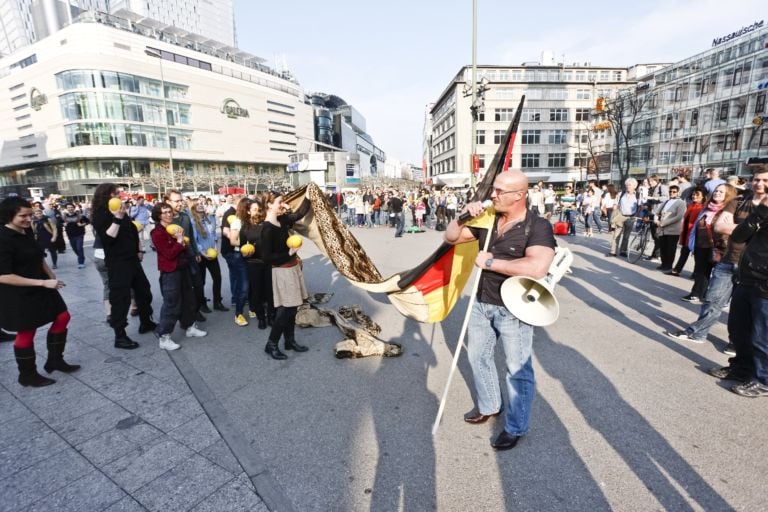
[[[35,331],[52,323],[48,330],[48,361],[45,371],[71,373],[79,365],[64,361],[70,315],[56,279],[45,263],[44,253],[32,232],[32,206],[20,197],[0,203],[0,325],[16,331],[13,351],[19,366],[19,384],[47,386],[53,379],[37,373]]]

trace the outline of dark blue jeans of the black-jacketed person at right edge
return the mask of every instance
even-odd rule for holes
[[[736,349],[731,368],[768,385],[768,299],[756,287],[733,287],[728,336]]]

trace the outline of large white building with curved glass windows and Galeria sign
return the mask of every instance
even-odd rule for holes
[[[263,62],[156,20],[83,13],[0,59],[0,193],[82,196],[171,167],[203,190],[283,172],[313,138],[312,108]]]

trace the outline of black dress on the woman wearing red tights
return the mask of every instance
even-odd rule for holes
[[[45,253],[31,229],[21,234],[0,226],[0,275],[16,274],[30,279],[48,279],[43,272]],[[57,290],[42,286],[0,284],[0,326],[10,331],[28,331],[53,322],[67,310]]]

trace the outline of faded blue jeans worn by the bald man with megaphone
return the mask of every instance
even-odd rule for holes
[[[509,407],[504,430],[521,436],[528,432],[535,384],[531,351],[533,326],[518,320],[504,306],[475,302],[469,320],[467,356],[472,367],[480,414],[501,410],[502,397],[496,372],[496,340],[504,346]]]

